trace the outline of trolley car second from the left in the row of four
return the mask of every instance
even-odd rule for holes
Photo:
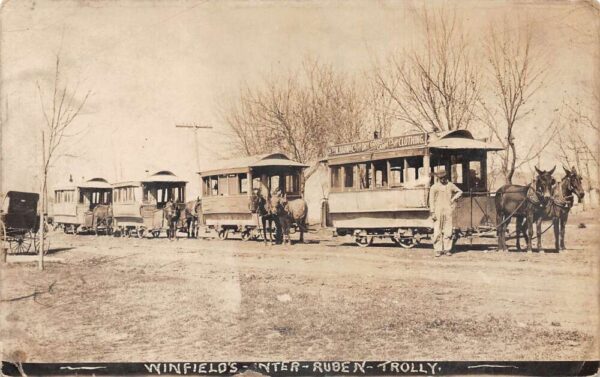
[[[168,170],[159,171],[142,180],[113,184],[115,235],[159,237],[168,228],[163,208],[172,198],[175,205],[183,211],[186,184],[185,180]],[[180,218],[178,228],[183,227],[185,224]]]

